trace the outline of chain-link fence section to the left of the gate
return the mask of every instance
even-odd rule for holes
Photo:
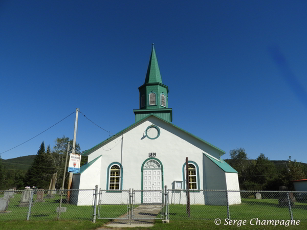
[[[92,220],[94,194],[93,189],[0,191],[0,220]]]

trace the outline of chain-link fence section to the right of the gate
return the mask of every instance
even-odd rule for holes
[[[307,192],[168,190],[167,197],[170,220],[307,220]]]

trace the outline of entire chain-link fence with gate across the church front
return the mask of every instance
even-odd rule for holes
[[[96,213],[97,219],[306,221],[307,192],[167,188],[98,191],[98,186],[88,190],[0,191],[0,221],[77,219],[95,222]]]

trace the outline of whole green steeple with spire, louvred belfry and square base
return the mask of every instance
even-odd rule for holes
[[[152,44],[145,83],[139,87],[140,109],[134,109],[136,122],[155,114],[167,122],[172,121],[172,109],[168,108],[168,86],[162,84],[155,47]]]

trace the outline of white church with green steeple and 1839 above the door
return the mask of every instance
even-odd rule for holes
[[[196,190],[239,191],[237,171],[221,158],[225,151],[172,124],[168,86],[162,83],[153,45],[145,83],[139,92],[140,108],[133,110],[135,123],[83,153],[88,156],[88,163],[80,168],[80,173],[74,173],[72,189],[98,185],[106,196],[130,188],[157,191],[167,185],[168,189],[186,189],[188,157],[191,197],[202,196],[191,198],[191,204],[225,204],[226,192],[219,196],[213,191]],[[173,197],[176,191],[170,192],[169,202],[173,202]],[[153,192],[142,192],[140,199],[142,203],[160,202]],[[78,205],[91,205],[77,197],[74,200]],[[228,192],[228,200],[229,204],[241,203],[240,193]],[[185,197],[182,202],[186,202]]]

